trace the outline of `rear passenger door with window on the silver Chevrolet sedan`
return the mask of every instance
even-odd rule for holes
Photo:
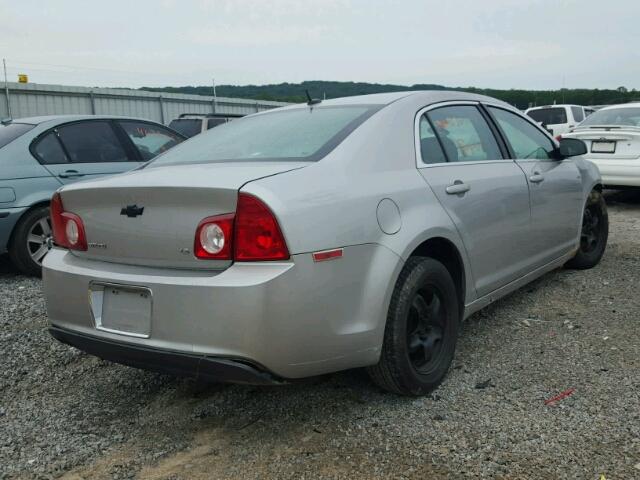
[[[475,103],[425,109],[419,116],[418,166],[464,242],[479,296],[529,267],[529,192],[497,132]]]

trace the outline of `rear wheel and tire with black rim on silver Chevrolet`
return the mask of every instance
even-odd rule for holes
[[[460,323],[449,271],[432,258],[410,258],[391,297],[380,360],[367,369],[371,379],[400,395],[434,390],[453,361]]]

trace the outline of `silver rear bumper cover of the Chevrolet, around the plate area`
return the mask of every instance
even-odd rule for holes
[[[374,244],[345,247],[339,260],[315,263],[300,254],[222,272],[127,266],[54,248],[44,260],[43,291],[53,328],[156,352],[240,360],[294,379],[378,361],[401,268],[397,255]],[[100,328],[102,307],[90,291],[107,282],[150,291],[147,336]]]

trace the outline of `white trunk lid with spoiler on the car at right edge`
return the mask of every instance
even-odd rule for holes
[[[632,126],[578,127],[566,137],[579,138],[587,144],[588,158],[600,160],[635,160],[640,157],[640,128]],[[613,148],[613,151],[606,151]]]

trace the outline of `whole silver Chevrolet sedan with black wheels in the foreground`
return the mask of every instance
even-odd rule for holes
[[[607,211],[585,151],[456,92],[235,120],[54,195],[50,332],[203,380],[367,367],[384,389],[425,394],[463,319],[552,269],[599,262]]]

